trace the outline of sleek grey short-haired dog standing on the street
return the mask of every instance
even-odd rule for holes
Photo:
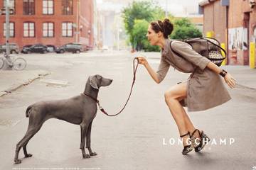
[[[26,145],[33,135],[41,129],[43,123],[50,118],[57,118],[80,125],[82,157],[89,158],[90,156],[97,155],[95,152],[92,152],[90,147],[92,120],[97,113],[97,102],[95,99],[99,93],[100,86],[109,86],[111,83],[112,79],[105,79],[100,75],[94,75],[88,78],[85,91],[80,96],[58,101],[41,101],[28,106],[26,109],[26,117],[29,117],[28,130],[22,140],[16,145],[14,162],[16,164],[21,163],[21,159],[18,159],[18,152],[21,147],[23,147],[25,157],[32,157],[32,154],[27,153]],[[86,147],[90,155],[85,153],[85,137]]]

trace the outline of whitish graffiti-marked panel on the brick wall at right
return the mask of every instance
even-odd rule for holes
[[[247,28],[228,29],[228,50],[247,50]]]

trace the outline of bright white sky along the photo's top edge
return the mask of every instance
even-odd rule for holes
[[[102,10],[121,11],[124,6],[127,6],[133,0],[96,0],[97,7]],[[137,0],[138,1],[138,0]],[[174,16],[184,16],[188,13],[198,13],[198,3],[202,0],[154,0],[166,10],[167,9]]]

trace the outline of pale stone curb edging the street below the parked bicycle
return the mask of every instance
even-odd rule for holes
[[[38,74],[38,76],[34,77],[33,79],[28,79],[27,81],[24,81],[23,83],[14,84],[9,89],[6,89],[5,91],[1,91],[0,92],[0,97],[6,96],[7,94],[11,94],[11,92],[16,91],[17,89],[21,88],[22,86],[27,86],[28,84],[31,84],[36,79],[40,79],[41,77],[46,77],[49,74],[50,74],[49,72],[48,73],[43,73],[43,74]]]

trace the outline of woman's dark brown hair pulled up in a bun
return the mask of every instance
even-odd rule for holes
[[[152,21],[150,25],[156,33],[161,31],[164,34],[164,38],[168,38],[168,35],[174,30],[174,25],[167,18],[165,18],[164,21]]]

